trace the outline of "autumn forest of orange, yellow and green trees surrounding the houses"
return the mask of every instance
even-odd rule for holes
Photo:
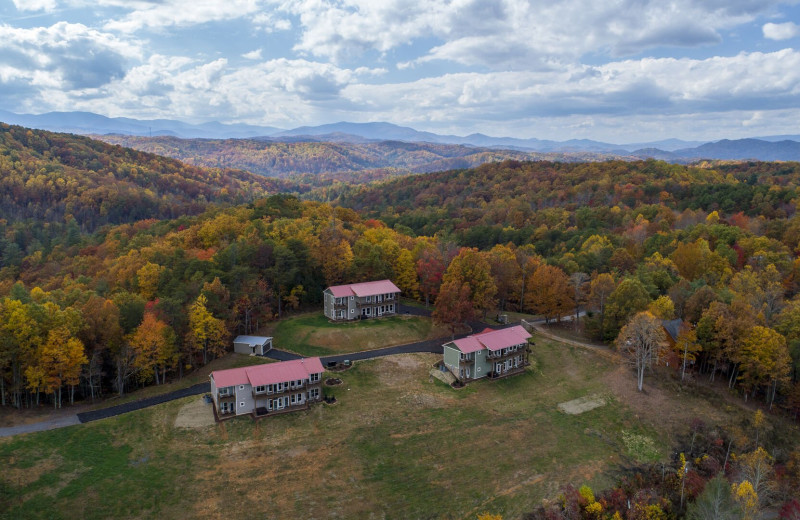
[[[452,327],[497,309],[556,321],[585,309],[587,333],[622,352],[658,340],[630,353],[643,376],[670,361],[676,377],[800,416],[798,163],[504,161],[320,202],[239,171],[0,130],[3,406],[162,384],[233,335],[319,308],[328,285],[391,278]],[[662,320],[682,324],[669,347]],[[616,500],[564,496],[532,518],[600,518]],[[651,513],[635,518],[667,518]]]

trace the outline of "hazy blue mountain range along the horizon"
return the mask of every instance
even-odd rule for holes
[[[520,152],[556,153],[570,160],[587,160],[585,154],[600,158],[655,158],[669,162],[692,162],[698,159],[722,160],[800,160],[800,135],[773,135],[749,139],[714,142],[665,139],[653,142],[613,144],[590,139],[554,141],[492,137],[484,134],[467,136],[422,132],[392,123],[340,122],[319,126],[301,126],[291,130],[271,126],[223,124],[218,122],[190,124],[168,119],[137,120],[109,118],[90,112],[49,112],[15,114],[0,110],[0,121],[31,128],[76,134],[119,134],[123,136],[172,136],[183,139],[258,139],[268,142],[332,142],[370,143],[381,141],[435,143],[516,150]],[[591,159],[589,159],[591,160]]]

